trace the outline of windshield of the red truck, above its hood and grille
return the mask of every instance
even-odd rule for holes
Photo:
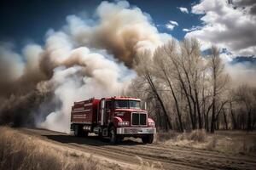
[[[137,100],[115,100],[114,108],[116,109],[140,109],[141,102]]]

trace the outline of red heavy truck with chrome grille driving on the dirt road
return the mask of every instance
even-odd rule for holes
[[[151,144],[156,129],[148,112],[141,109],[141,99],[111,97],[74,102],[71,111],[71,131],[75,136],[96,133],[109,137],[112,144],[125,137],[141,138]]]

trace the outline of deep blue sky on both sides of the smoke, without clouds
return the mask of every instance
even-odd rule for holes
[[[87,15],[92,17],[99,0],[45,0],[45,1],[3,1],[0,6],[0,40],[11,41],[20,45],[26,42],[44,41],[44,34],[49,28],[60,29],[66,24],[70,14]],[[196,14],[184,14],[178,7],[190,10],[193,0],[164,1],[164,0],[131,0],[131,6],[141,8],[149,14],[160,32],[172,34],[177,39],[183,39],[183,28],[201,25]],[[172,31],[166,28],[169,20],[177,21],[178,26]]]

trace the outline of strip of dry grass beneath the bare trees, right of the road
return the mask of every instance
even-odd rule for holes
[[[232,134],[232,132],[217,132],[210,134],[206,133],[205,130],[195,130],[190,133],[160,133],[158,134],[158,139],[161,139],[158,140],[159,143],[166,145],[215,150],[231,154],[256,154],[256,135],[247,135],[244,132],[235,134]]]

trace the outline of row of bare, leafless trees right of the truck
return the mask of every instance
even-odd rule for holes
[[[146,101],[159,129],[255,129],[256,88],[232,84],[217,47],[202,55],[196,39],[172,40],[137,54],[134,63],[127,95]]]

